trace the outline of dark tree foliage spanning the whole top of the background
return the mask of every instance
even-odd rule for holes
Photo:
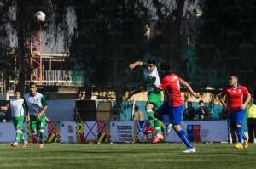
[[[127,65],[143,60],[146,54],[171,65],[174,72],[198,87],[221,87],[227,76],[235,73],[242,83],[256,88],[252,81],[256,74],[254,0],[187,1],[201,9],[198,19],[186,11],[184,0],[0,2],[0,49],[8,48],[7,37],[17,32],[22,37],[19,54],[27,56],[26,40],[39,27],[33,14],[42,10],[47,16],[46,42],[52,44],[60,35],[65,37],[67,51],[81,66],[85,88],[117,89],[139,82],[141,72],[131,71]],[[15,17],[19,11],[21,15]],[[76,20],[73,31],[67,20],[70,11]],[[151,24],[148,42],[143,37],[145,24]],[[183,31],[183,27],[189,31]],[[189,44],[187,37],[191,38]],[[24,60],[21,58],[19,65],[24,65]]]

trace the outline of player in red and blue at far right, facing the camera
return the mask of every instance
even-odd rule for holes
[[[227,104],[224,103],[224,96],[226,96]],[[245,101],[243,101],[244,96],[247,98]],[[223,87],[219,100],[221,104],[223,104],[224,109],[230,111],[229,118],[231,127],[236,128],[238,138],[238,143],[235,144],[236,149],[247,149],[248,141],[242,131],[242,120],[245,115],[245,109],[251,100],[251,95],[247,87],[240,85],[238,83],[238,77],[232,75],[229,78],[229,84]]]

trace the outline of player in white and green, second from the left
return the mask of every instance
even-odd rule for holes
[[[45,111],[47,110],[47,101],[43,94],[37,92],[36,83],[30,82],[29,93],[24,96],[25,105],[28,109],[30,120],[30,129],[32,136],[37,138],[39,135],[39,149],[44,149],[44,127],[45,127]]]

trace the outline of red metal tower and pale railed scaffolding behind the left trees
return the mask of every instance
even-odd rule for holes
[[[38,85],[83,86],[80,70],[73,70],[74,59],[68,54],[42,52],[42,28],[29,40],[30,81]]]

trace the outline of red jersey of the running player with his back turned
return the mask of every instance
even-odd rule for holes
[[[166,92],[170,105],[177,107],[183,105],[183,99],[180,92],[181,78],[175,74],[167,75],[164,77],[160,87]]]

